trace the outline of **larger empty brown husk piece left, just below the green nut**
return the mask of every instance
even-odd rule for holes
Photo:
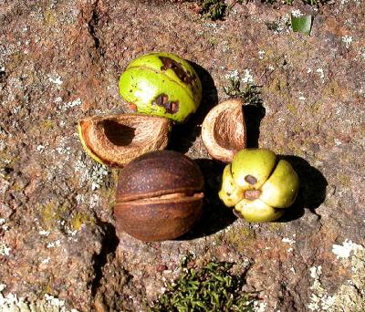
[[[78,122],[85,150],[111,167],[124,167],[148,151],[163,150],[169,131],[169,120],[141,114],[94,116]]]

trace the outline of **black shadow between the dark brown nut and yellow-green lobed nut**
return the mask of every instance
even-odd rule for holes
[[[221,177],[224,170],[224,163],[213,160],[195,160],[203,172],[204,203],[203,215],[193,229],[184,234],[179,240],[189,240],[205,235],[214,234],[223,230],[236,220],[232,209],[226,208],[218,197],[221,187]]]

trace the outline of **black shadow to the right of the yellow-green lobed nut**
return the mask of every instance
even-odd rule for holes
[[[279,159],[284,159],[293,166],[299,177],[299,191],[297,200],[287,209],[277,222],[288,222],[297,220],[302,217],[307,208],[311,213],[314,213],[320,219],[320,215],[316,209],[326,198],[326,188],[328,182],[321,172],[312,167],[308,161],[297,156],[279,156]]]

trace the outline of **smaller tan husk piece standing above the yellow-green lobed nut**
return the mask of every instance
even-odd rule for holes
[[[202,125],[202,140],[209,154],[231,162],[245,148],[245,118],[242,99],[228,99],[211,109]]]

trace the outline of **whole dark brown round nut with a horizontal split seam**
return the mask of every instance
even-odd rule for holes
[[[120,171],[114,216],[117,231],[141,241],[174,239],[199,219],[203,175],[177,151],[152,151]]]

